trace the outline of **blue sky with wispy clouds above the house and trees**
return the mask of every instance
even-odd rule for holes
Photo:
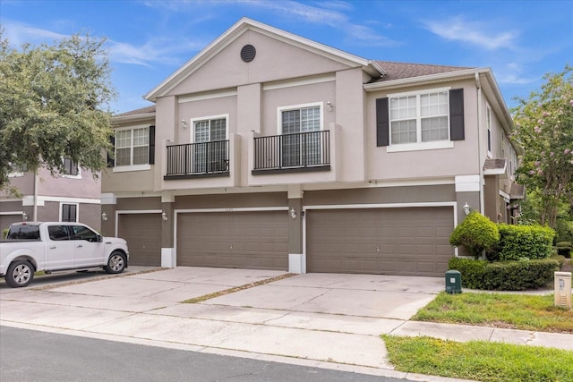
[[[0,0],[5,37],[107,38],[122,113],[241,17],[381,61],[491,67],[508,106],[573,65],[573,0]]]

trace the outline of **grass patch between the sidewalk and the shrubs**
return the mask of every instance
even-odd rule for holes
[[[552,294],[442,292],[412,319],[573,334],[573,310],[555,307]]]

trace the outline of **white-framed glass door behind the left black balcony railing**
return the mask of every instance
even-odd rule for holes
[[[193,119],[194,173],[227,171],[227,115]]]

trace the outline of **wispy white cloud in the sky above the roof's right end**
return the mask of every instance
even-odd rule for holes
[[[513,31],[492,32],[485,23],[466,21],[463,16],[448,20],[426,21],[432,33],[450,41],[462,41],[488,50],[514,48],[517,33]]]

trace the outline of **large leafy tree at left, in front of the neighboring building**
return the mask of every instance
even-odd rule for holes
[[[104,42],[74,35],[16,49],[0,30],[0,190],[13,191],[14,166],[56,174],[68,158],[97,174],[107,165],[115,90]]]

